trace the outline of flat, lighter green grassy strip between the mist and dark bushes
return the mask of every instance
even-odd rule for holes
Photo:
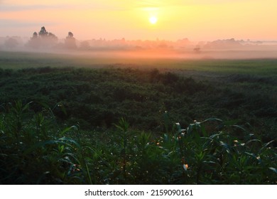
[[[115,55],[114,55],[115,54]],[[126,53],[0,53],[1,68],[21,69],[37,67],[77,67],[77,68],[158,68],[159,70],[188,70],[222,74],[246,74],[275,76],[276,59],[185,59],[178,58],[136,58]]]

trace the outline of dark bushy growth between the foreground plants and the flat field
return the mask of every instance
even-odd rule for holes
[[[248,122],[264,139],[276,139],[276,82],[261,77],[270,83],[265,85],[257,78],[230,75],[204,82],[156,69],[6,69],[0,70],[0,102],[37,102],[31,105],[35,112],[38,103],[58,103],[53,112],[59,122],[82,129],[111,127],[126,117],[131,127],[161,131],[167,111],[183,126],[217,117]]]

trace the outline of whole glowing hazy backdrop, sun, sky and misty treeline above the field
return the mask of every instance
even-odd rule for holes
[[[276,0],[0,0],[0,50],[277,58],[276,8]]]

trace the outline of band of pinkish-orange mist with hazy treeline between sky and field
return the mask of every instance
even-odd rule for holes
[[[79,40],[72,32],[66,38],[48,33],[43,26],[31,38],[0,37],[1,51],[23,51],[85,55],[88,58],[167,58],[167,59],[256,59],[277,58],[277,41],[250,41],[234,38],[216,41],[156,39],[127,41],[124,38]]]

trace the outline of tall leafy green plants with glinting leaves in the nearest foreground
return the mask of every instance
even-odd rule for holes
[[[276,184],[277,151],[219,119],[176,123],[157,137],[116,129],[83,134],[61,129],[53,112],[20,101],[1,114],[0,183],[4,184]],[[166,114],[165,114],[166,117]],[[205,123],[215,128],[205,130]]]

